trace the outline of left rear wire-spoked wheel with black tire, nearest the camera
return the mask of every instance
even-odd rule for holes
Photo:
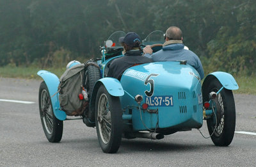
[[[109,95],[104,85],[97,92],[95,123],[102,151],[117,152],[122,140],[122,109],[119,97]]]

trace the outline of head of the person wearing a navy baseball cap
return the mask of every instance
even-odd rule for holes
[[[119,38],[119,42],[124,47],[125,51],[130,51],[134,48],[140,47],[140,36],[134,32],[127,33],[125,36]]]

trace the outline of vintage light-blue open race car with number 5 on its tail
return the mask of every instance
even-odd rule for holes
[[[162,139],[179,131],[200,129],[203,120],[215,145],[228,146],[236,126],[236,108],[232,90],[238,85],[226,72],[207,75],[204,83],[195,68],[183,61],[154,62],[125,70],[120,81],[108,77],[109,63],[124,56],[118,39],[123,31],[113,33],[101,47],[101,58],[86,62],[84,86],[89,108],[79,115],[88,127],[96,127],[103,152],[115,153],[122,138]],[[143,40],[154,52],[163,44],[163,32],[154,31]],[[76,65],[74,61],[70,67]],[[39,90],[39,107],[45,136],[59,142],[63,120],[58,100],[59,79],[40,70],[44,81]],[[56,95],[55,95],[56,94]]]

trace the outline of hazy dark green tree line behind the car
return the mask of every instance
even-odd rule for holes
[[[99,57],[114,31],[178,26],[205,74],[255,75],[255,13],[253,0],[0,0],[0,66],[63,67]]]

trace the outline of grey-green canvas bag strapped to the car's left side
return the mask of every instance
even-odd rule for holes
[[[60,77],[58,86],[60,107],[69,116],[81,115],[86,107],[85,100],[79,99],[82,93],[84,64],[68,68]]]

